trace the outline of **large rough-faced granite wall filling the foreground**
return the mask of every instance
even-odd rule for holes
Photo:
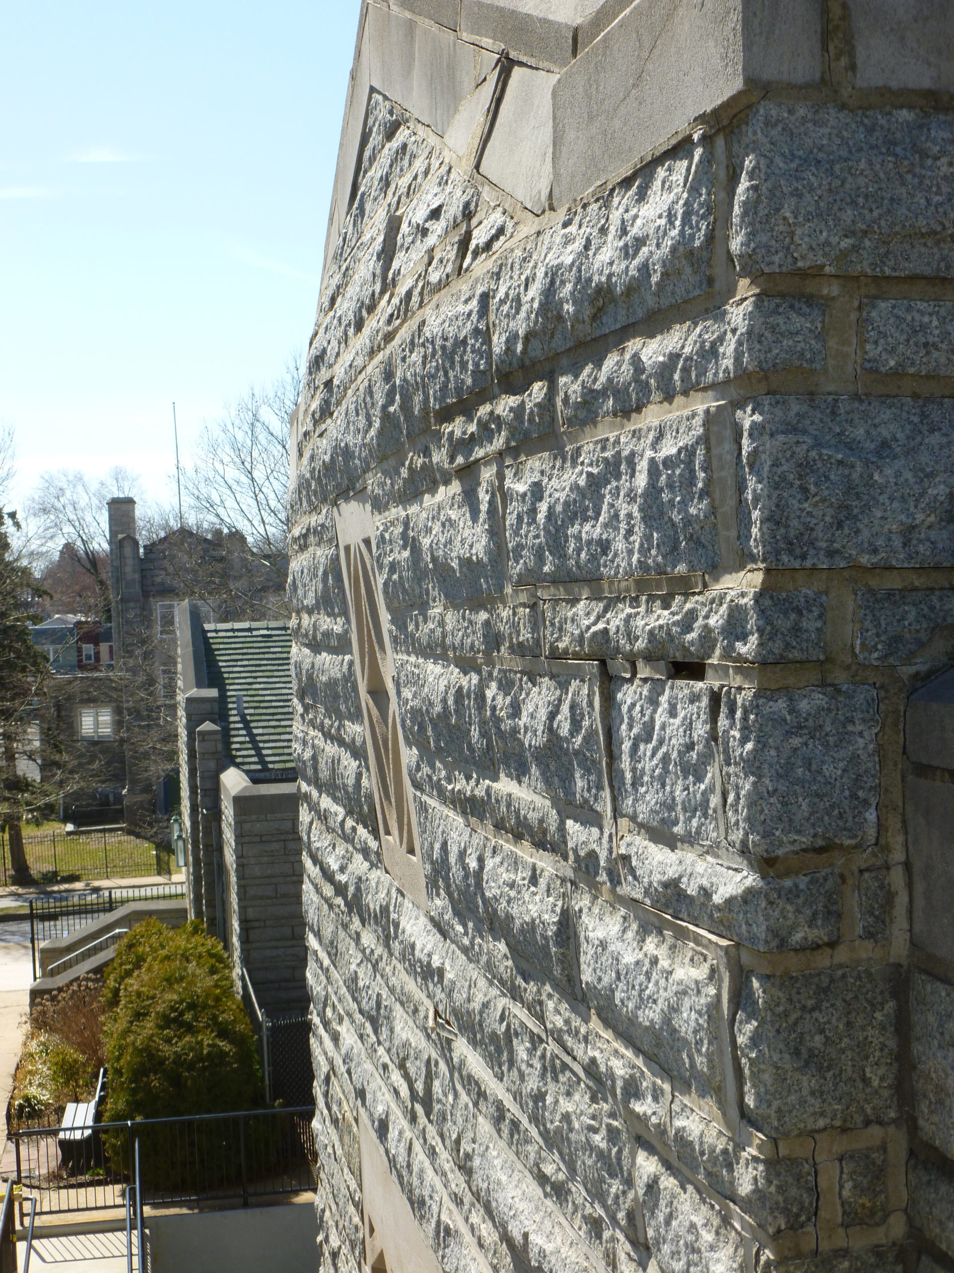
[[[454,1273],[951,1269],[904,826],[954,654],[934,8],[792,6],[749,75],[759,5],[672,4],[745,56],[687,104],[658,32],[641,141],[613,41],[661,4],[408,8],[363,9],[291,437],[319,1267],[402,1267],[380,1155]]]

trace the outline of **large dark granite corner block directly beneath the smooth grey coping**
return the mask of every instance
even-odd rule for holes
[[[736,129],[742,275],[954,274],[954,120],[763,102]]]

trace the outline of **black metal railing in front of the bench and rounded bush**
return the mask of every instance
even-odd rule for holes
[[[303,1193],[317,1183],[314,1105],[10,1133],[17,1181],[43,1213],[125,1204],[139,1142],[142,1203]]]

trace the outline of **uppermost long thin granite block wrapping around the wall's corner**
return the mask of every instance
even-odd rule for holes
[[[824,306],[753,297],[560,377],[567,428],[626,415],[749,372],[824,368]]]

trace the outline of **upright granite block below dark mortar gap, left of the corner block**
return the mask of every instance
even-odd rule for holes
[[[701,844],[719,839],[719,691],[696,681],[613,677],[619,817]]]

